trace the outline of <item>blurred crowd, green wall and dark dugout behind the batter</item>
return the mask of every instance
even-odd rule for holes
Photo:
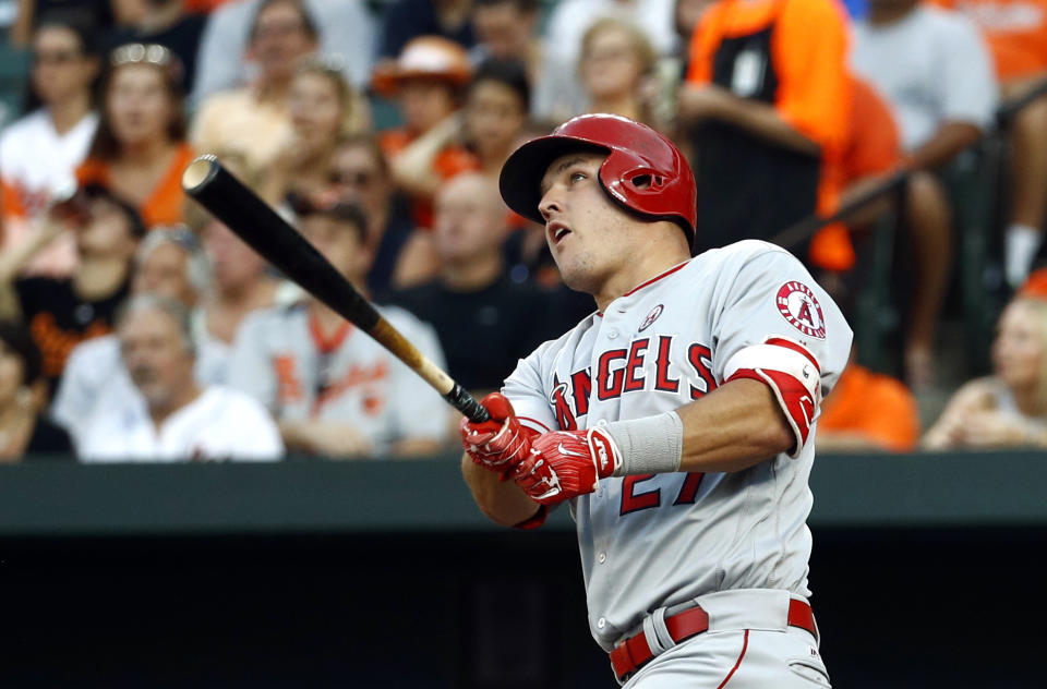
[[[582,112],[855,330],[834,686],[1044,686],[1045,0],[0,0],[0,684],[613,687],[566,515],[489,525],[457,414],[180,188],[217,154],[480,397],[593,311],[497,191]]]

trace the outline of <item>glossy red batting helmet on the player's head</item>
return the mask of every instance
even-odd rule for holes
[[[576,117],[517,148],[498,180],[505,203],[544,223],[538,210],[540,180],[553,160],[579,150],[609,154],[600,166],[600,184],[611,198],[646,218],[677,222],[694,247],[698,210],[690,166],[671,141],[617,114]]]

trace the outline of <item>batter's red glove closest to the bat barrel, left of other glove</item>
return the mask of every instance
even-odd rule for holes
[[[520,425],[513,404],[501,392],[491,392],[480,402],[491,421],[473,423],[461,420],[461,444],[472,461],[500,474],[503,481],[531,450],[537,431]]]

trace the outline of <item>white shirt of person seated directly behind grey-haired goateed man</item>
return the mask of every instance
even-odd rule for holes
[[[193,313],[196,342],[194,378],[202,387],[222,385],[229,370],[231,348],[208,335],[203,312]],[[141,397],[120,358],[120,340],[106,335],[73,348],[51,404],[51,419],[62,425],[80,447],[85,425],[100,407],[119,407],[124,400]]]

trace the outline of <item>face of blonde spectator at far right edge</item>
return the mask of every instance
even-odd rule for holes
[[[996,375],[1013,389],[1035,389],[1044,368],[1045,343],[1039,307],[1018,301],[1003,310],[992,342]]]

